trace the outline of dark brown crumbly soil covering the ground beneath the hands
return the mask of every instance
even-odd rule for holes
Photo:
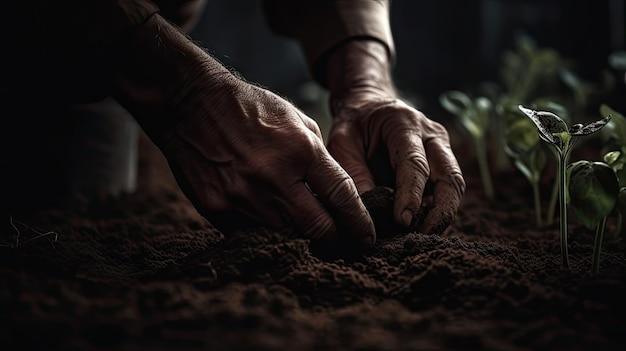
[[[329,259],[268,229],[217,231],[143,152],[136,193],[2,219],[3,349],[625,349],[624,239],[591,274],[594,233],[570,216],[563,269],[521,174],[494,172],[488,200],[460,161],[467,193],[443,233],[394,226],[379,188],[364,194],[375,247]]]

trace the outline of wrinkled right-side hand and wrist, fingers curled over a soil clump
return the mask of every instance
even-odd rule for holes
[[[413,226],[432,186],[432,204],[420,229],[441,233],[454,221],[465,192],[448,132],[396,97],[388,75],[379,73],[387,72],[382,45],[353,44],[335,53],[334,66],[332,59],[329,63],[334,122],[328,149],[360,193],[376,185],[395,188],[394,217],[405,227],[417,229]]]

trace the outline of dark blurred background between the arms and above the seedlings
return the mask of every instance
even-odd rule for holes
[[[396,83],[431,118],[448,118],[438,96],[497,81],[501,54],[518,33],[556,49],[581,78],[595,81],[610,70],[610,53],[625,49],[625,13],[624,0],[394,0]],[[296,102],[326,129],[326,92],[311,81],[298,44],[265,26],[258,1],[209,0],[191,36],[248,80]],[[612,104],[624,111],[623,72],[621,80]]]

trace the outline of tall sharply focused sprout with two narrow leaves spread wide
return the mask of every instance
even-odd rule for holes
[[[528,109],[522,105],[519,109],[530,118],[539,131],[539,137],[552,146],[558,159],[558,177],[559,186],[559,213],[560,213],[560,240],[561,240],[561,259],[564,268],[569,268],[569,256],[567,253],[567,183],[565,180],[566,165],[569,160],[570,153],[574,146],[583,136],[593,134],[604,127],[610,120],[611,116],[607,116],[587,125],[575,124],[571,128],[567,127],[565,121],[559,116],[548,111],[535,111]]]

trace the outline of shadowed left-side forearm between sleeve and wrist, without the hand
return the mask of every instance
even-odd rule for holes
[[[124,40],[114,72],[114,97],[161,145],[187,122],[191,96],[214,101],[207,113],[216,113],[238,81],[160,15]]]

